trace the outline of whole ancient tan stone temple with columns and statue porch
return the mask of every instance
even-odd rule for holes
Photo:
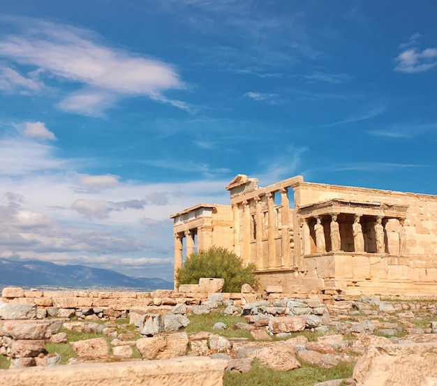
[[[302,176],[262,188],[237,175],[226,189],[230,205],[200,204],[171,216],[175,272],[195,250],[216,245],[252,262],[261,287],[435,296],[437,196]]]

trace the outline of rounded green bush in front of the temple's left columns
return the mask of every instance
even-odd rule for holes
[[[252,287],[258,285],[254,268],[253,264],[244,267],[242,260],[228,249],[212,246],[188,256],[184,266],[177,271],[176,281],[179,285],[198,284],[201,277],[225,279],[223,292],[239,292],[244,283]]]

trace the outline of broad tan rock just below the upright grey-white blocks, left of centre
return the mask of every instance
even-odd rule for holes
[[[186,354],[186,333],[153,336],[138,339],[135,343],[143,359],[170,359]]]

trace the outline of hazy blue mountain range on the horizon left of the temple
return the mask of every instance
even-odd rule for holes
[[[13,261],[0,258],[0,288],[21,287],[135,287],[143,290],[167,290],[173,283],[162,279],[135,278],[110,269],[85,265],[57,265],[39,260]]]

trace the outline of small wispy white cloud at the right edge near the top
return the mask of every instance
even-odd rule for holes
[[[421,73],[437,66],[437,47],[420,50],[417,40],[420,34],[413,34],[407,43],[401,44],[403,50],[394,61],[397,61],[395,71],[401,73]]]

